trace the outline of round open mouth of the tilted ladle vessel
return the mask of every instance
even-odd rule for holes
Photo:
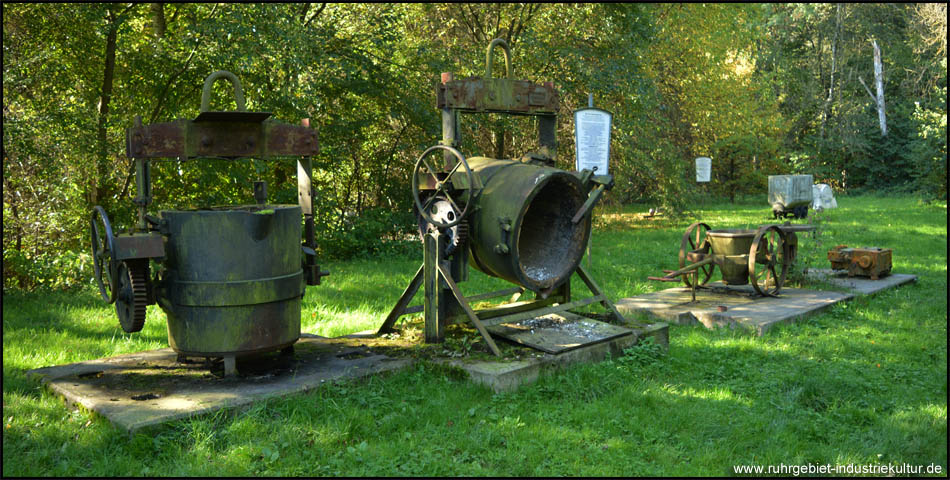
[[[526,287],[544,289],[573,273],[590,235],[590,216],[571,218],[586,200],[572,177],[553,175],[530,200],[518,234],[518,267]]]

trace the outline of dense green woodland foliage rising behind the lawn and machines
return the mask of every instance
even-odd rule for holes
[[[439,138],[440,72],[482,75],[494,37],[514,76],[561,94],[559,166],[573,167],[570,112],[614,113],[607,202],[688,209],[692,159],[714,159],[703,194],[762,194],[765,177],[813,173],[839,189],[946,198],[946,7],[939,4],[29,4],[3,9],[4,288],[89,278],[87,217],[133,218],[124,129],[193,118],[202,80],[226,69],[248,108],[319,129],[321,255],[371,256],[414,228],[415,157]],[[883,51],[887,119],[869,39]],[[213,106],[233,101],[217,84]],[[524,119],[466,118],[463,151],[530,147]],[[153,210],[249,202],[250,182],[295,199],[289,163],[158,163]],[[71,253],[67,253],[71,252]],[[79,253],[82,252],[82,253]],[[58,263],[54,263],[57,262]],[[50,272],[58,274],[50,275]]]

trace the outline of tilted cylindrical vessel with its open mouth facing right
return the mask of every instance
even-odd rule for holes
[[[469,220],[475,267],[534,291],[570,278],[590,237],[590,215],[571,223],[587,200],[581,181],[513,160],[472,157],[468,164],[483,186]]]

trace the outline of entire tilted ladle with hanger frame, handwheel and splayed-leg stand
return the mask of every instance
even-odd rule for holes
[[[504,77],[492,76],[497,48],[504,54]],[[492,40],[485,57],[484,77],[455,79],[443,73],[437,85],[442,140],[422,152],[412,172],[424,262],[378,333],[392,332],[402,315],[423,311],[426,342],[443,341],[450,323],[470,322],[495,355],[500,351],[492,334],[549,353],[630,334],[629,329],[576,311],[599,303],[606,314],[597,318],[624,321],[581,265],[591,234],[591,212],[613,186],[613,178],[591,170],[556,168],[560,105],[554,85],[511,78],[511,54],[502,39]],[[459,151],[462,113],[534,117],[537,149],[519,158],[465,157]],[[503,149],[497,148],[502,139],[496,140],[498,157],[503,156],[499,152]],[[465,296],[459,284],[468,279],[469,265],[516,287]],[[575,273],[592,296],[572,299],[570,279]],[[424,304],[410,307],[420,287]],[[534,292],[535,298],[518,301],[526,291]],[[509,295],[506,304],[472,307],[476,301]],[[588,335],[552,343],[527,334],[544,322],[572,324],[575,333]]]

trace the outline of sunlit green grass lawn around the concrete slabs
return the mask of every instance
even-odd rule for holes
[[[450,370],[407,370],[169,423],[132,437],[67,408],[31,368],[162,348],[164,315],[124,334],[81,292],[3,296],[4,476],[734,475],[733,465],[937,464],[947,471],[947,210],[911,198],[838,198],[800,258],[835,245],[894,249],[916,284],[837,304],[756,338],[673,326],[648,349],[493,394]],[[770,222],[764,199],[676,220],[646,206],[600,212],[591,272],[613,299],[668,288],[684,228]],[[303,329],[376,328],[418,258],[332,262],[308,289]],[[584,260],[585,264],[587,260]],[[718,274],[717,274],[718,277]],[[717,278],[714,277],[714,280]],[[472,273],[466,294],[505,288]],[[582,291],[578,282],[576,291]]]

